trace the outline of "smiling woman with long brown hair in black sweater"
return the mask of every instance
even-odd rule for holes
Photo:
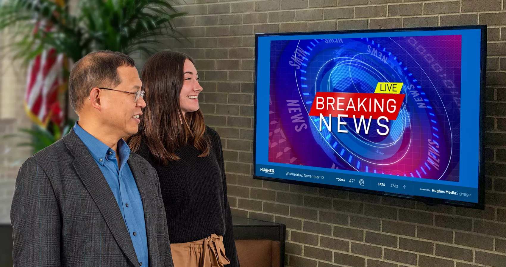
[[[175,267],[239,266],[220,136],[199,110],[193,60],[157,52],[141,80],[147,105],[128,143],[158,173]]]

